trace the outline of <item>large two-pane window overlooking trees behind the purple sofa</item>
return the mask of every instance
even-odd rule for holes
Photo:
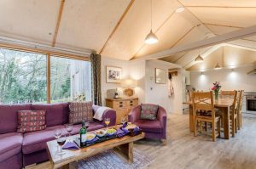
[[[0,104],[90,100],[90,62],[49,58],[46,54],[0,48]]]

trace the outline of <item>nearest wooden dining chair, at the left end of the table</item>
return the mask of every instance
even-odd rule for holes
[[[194,117],[194,136],[197,135],[198,122],[209,122],[212,124],[212,141],[220,137],[220,117],[215,115],[213,104],[213,94],[211,92],[192,93],[193,117]],[[201,113],[203,112],[203,113]],[[218,134],[215,128],[217,124]]]

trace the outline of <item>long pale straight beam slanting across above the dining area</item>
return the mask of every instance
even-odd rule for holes
[[[256,25],[243,28],[237,31],[231,31],[229,33],[225,33],[217,37],[210,37],[208,39],[204,39],[201,41],[183,44],[174,48],[163,50],[155,54],[149,54],[149,55],[137,58],[137,60],[160,59],[160,58],[164,58],[166,56],[170,56],[172,54],[177,54],[180,52],[195,50],[197,48],[207,48],[223,42],[230,42],[236,39],[241,39],[243,37],[250,37],[250,36],[253,36],[254,34],[256,34]]]

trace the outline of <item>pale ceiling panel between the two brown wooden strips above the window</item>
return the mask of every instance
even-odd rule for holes
[[[66,1],[55,46],[99,52],[129,3],[130,0]]]

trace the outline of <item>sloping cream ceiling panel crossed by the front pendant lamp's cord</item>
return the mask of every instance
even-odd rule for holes
[[[153,31],[158,30],[180,5],[175,0],[153,1]],[[165,29],[166,24],[161,29]],[[126,14],[122,24],[109,40],[102,55],[117,59],[131,59],[144,45],[150,31],[150,1],[137,0]]]

